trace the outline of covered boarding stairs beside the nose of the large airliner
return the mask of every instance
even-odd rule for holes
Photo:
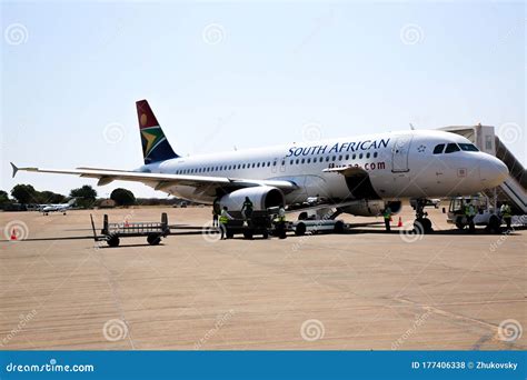
[[[489,126],[453,126],[441,130],[460,134],[470,140],[483,152],[493,154],[504,161],[509,169],[509,176],[499,187],[487,189],[485,196],[496,199],[498,203],[508,202],[515,214],[527,214],[527,176],[524,166],[507,149],[505,143],[495,134]]]

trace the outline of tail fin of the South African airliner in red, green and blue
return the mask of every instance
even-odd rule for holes
[[[145,163],[178,158],[147,100],[136,102]]]

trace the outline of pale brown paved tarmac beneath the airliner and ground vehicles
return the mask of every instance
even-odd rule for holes
[[[345,217],[345,234],[219,241],[209,208],[0,213],[0,348],[525,350],[527,231],[435,233]],[[96,243],[110,221],[178,224],[159,246]],[[16,230],[17,240],[10,241]],[[183,233],[185,232],[185,233]]]

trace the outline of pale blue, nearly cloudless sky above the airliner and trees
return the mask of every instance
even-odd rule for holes
[[[182,156],[450,124],[513,123],[526,162],[524,2],[2,2],[0,189],[133,169],[135,101]],[[19,33],[17,33],[19,32]],[[508,127],[507,127],[508,128]],[[504,131],[501,129],[501,131]],[[128,182],[136,196],[166,197]]]

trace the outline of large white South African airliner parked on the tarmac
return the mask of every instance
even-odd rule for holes
[[[309,141],[259,149],[182,157],[175,152],[147,100],[136,102],[145,164],[136,170],[100,168],[19,170],[142,182],[189,201],[239,211],[246,197],[255,210],[328,200],[331,219],[340,213],[394,213],[416,200],[416,220],[431,221],[427,199],[474,194],[499,186],[508,169],[468,139],[445,131],[408,130]],[[320,207],[320,206],[319,206]],[[322,206],[324,207],[324,206]]]

